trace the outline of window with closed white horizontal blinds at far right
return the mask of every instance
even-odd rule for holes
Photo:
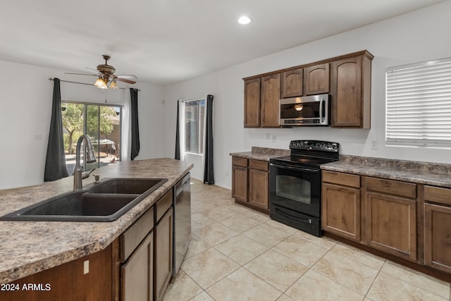
[[[388,68],[385,143],[451,147],[451,58]]]

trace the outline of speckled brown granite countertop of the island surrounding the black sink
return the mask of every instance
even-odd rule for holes
[[[94,174],[102,178],[168,178],[160,188],[112,222],[0,221],[0,283],[35,274],[103,250],[183,178],[191,165],[174,159],[123,161]],[[94,177],[83,180],[87,188]],[[73,177],[0,193],[0,216],[73,189]]]

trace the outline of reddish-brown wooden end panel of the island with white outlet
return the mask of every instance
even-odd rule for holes
[[[18,288],[0,291],[1,301],[111,301],[112,245],[66,264],[8,283]]]

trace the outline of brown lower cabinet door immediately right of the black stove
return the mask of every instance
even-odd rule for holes
[[[323,184],[321,197],[323,230],[360,241],[360,189]]]

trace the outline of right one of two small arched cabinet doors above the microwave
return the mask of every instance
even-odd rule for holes
[[[305,68],[305,94],[324,94],[329,92],[329,63]]]

